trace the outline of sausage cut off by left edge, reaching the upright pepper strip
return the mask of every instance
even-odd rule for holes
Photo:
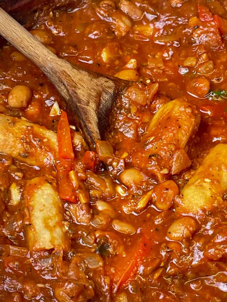
[[[0,114],[0,152],[28,165],[53,165],[58,157],[57,136],[27,120]]]

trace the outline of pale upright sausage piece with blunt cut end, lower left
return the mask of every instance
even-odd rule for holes
[[[25,221],[30,250],[67,249],[63,231],[62,204],[54,179],[37,177],[28,181],[25,190]]]

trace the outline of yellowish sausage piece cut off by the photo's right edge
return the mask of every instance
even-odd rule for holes
[[[227,190],[227,145],[212,148],[183,188],[179,211],[199,213],[224,206],[222,194]]]

